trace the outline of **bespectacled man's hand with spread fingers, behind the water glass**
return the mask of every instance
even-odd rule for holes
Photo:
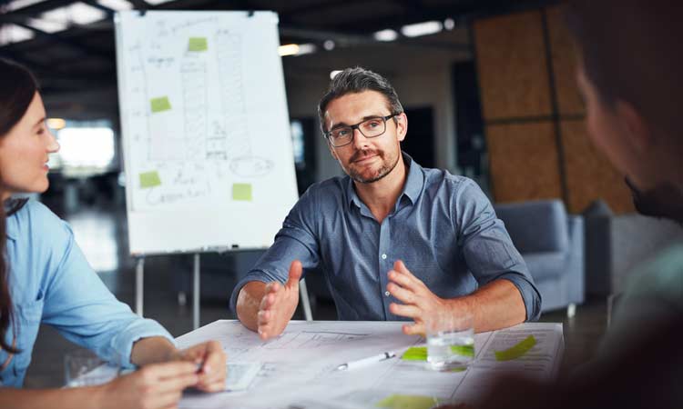
[[[424,334],[424,321],[427,317],[447,313],[450,305],[447,300],[437,297],[420,279],[411,274],[401,260],[393,264],[389,271],[386,289],[403,304],[392,303],[389,311],[392,314],[413,318],[414,324],[403,325],[403,334]]]

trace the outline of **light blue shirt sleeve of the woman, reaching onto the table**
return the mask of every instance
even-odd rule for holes
[[[45,292],[45,324],[123,367],[133,366],[130,353],[141,338],[162,336],[175,344],[156,321],[133,314],[127,304],[117,301],[87,263],[68,224],[46,208],[42,213],[38,218],[41,233],[48,230],[49,234],[36,235],[34,241],[41,244],[46,264],[45,283],[41,285]]]

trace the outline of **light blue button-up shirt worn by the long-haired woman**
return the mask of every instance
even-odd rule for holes
[[[110,362],[132,366],[133,343],[148,336],[173,337],[157,322],[117,301],[87,264],[68,224],[45,205],[27,202],[7,218],[9,288],[13,323],[7,344],[20,349],[0,370],[0,384],[20,387],[41,323]],[[0,365],[7,353],[0,349]]]

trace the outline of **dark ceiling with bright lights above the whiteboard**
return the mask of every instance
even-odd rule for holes
[[[19,25],[35,34],[31,40],[0,46],[0,56],[34,70],[45,94],[116,84],[112,23],[115,11],[96,0],[80,1],[104,10],[108,18],[48,34],[30,25],[29,19],[77,0],[44,0],[13,11],[5,11],[10,1],[0,0],[0,25]],[[384,28],[398,29],[407,24],[446,18],[454,19],[456,25],[467,25],[485,15],[556,3],[550,0],[175,0],[161,5],[149,5],[144,0],[128,2],[136,9],[148,10],[272,10],[280,15],[281,44],[321,45],[331,39],[340,46],[375,42],[372,33]],[[399,41],[430,45],[433,39],[426,36]]]

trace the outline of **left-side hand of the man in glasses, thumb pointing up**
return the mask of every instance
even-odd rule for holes
[[[266,340],[282,334],[294,315],[299,304],[299,280],[301,279],[301,262],[294,260],[290,266],[290,278],[284,285],[269,283],[266,294],[260,301],[258,315],[258,332],[260,339]]]

